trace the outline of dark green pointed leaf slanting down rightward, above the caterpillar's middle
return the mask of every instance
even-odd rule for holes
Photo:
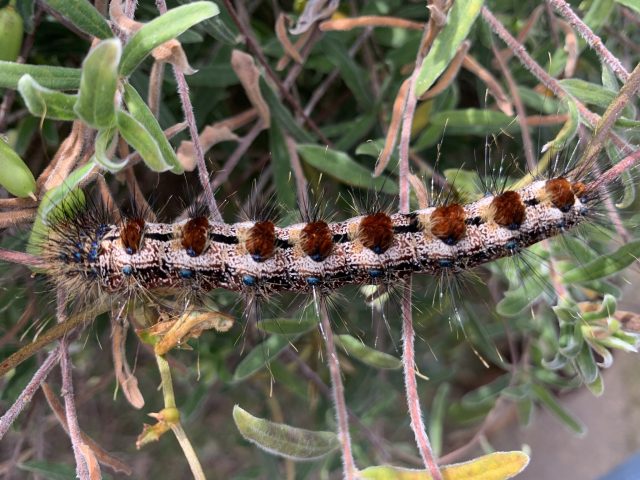
[[[347,185],[382,191],[391,195],[398,192],[395,182],[381,177],[373,178],[370,170],[356,163],[344,152],[310,144],[299,144],[298,152],[306,163]]]

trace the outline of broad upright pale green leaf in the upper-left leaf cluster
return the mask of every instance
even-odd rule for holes
[[[117,38],[103,40],[82,63],[80,91],[74,110],[93,128],[109,128],[115,123],[115,94],[122,44]]]

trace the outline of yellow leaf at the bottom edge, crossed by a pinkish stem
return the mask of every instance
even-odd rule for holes
[[[441,467],[444,480],[506,480],[513,478],[529,464],[524,452],[494,452],[464,463]],[[360,472],[368,480],[432,480],[425,470],[399,467],[369,467]]]

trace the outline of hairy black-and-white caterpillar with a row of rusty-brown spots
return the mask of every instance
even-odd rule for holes
[[[111,294],[136,287],[330,292],[411,273],[457,273],[514,255],[580,223],[594,198],[583,183],[557,177],[467,205],[282,228],[200,215],[175,224],[94,219],[79,233],[73,228],[82,219],[63,220],[46,240],[45,260],[62,286],[89,282]]]

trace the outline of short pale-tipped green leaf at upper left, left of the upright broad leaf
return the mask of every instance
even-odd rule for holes
[[[68,95],[45,88],[38,84],[31,75],[24,75],[18,82],[18,91],[27,105],[31,115],[38,118],[54,120],[75,120],[73,105],[77,95]]]

